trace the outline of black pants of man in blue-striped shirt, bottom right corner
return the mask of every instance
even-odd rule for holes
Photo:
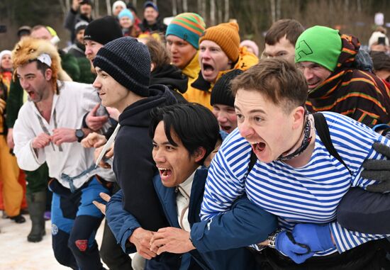
[[[255,257],[265,270],[381,270],[390,269],[390,263],[386,260],[386,250],[389,250],[389,242],[383,239],[361,244],[341,254],[336,252],[328,256],[311,257],[303,264],[296,264],[289,257],[271,248],[256,252]]]

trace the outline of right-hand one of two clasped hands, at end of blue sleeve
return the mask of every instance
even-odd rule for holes
[[[162,252],[186,253],[195,249],[190,239],[189,232],[177,227],[164,227],[157,232],[150,240],[150,250],[157,255]]]

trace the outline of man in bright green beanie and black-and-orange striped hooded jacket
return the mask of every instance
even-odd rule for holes
[[[333,111],[369,126],[390,122],[389,89],[375,74],[357,68],[360,42],[338,30],[314,26],[296,41],[295,62],[308,83],[311,112]]]

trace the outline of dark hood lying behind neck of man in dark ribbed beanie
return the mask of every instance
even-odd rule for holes
[[[121,126],[149,127],[152,108],[177,103],[169,88],[162,84],[149,86],[149,94],[150,96],[131,104],[121,113]]]

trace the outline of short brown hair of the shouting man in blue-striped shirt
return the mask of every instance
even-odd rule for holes
[[[308,86],[302,72],[294,64],[281,58],[260,60],[230,84],[234,96],[238,89],[244,89],[259,91],[276,105],[284,101],[286,113],[297,106],[304,106],[308,96]]]

